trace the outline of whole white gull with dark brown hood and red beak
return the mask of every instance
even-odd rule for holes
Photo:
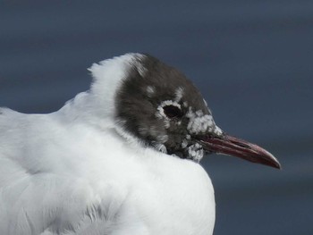
[[[210,235],[212,153],[280,168],[221,130],[199,89],[148,54],[94,63],[54,113],[0,109],[0,234]]]

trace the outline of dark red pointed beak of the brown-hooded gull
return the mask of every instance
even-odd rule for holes
[[[208,136],[201,138],[200,143],[208,152],[238,156],[252,163],[281,169],[281,164],[274,155],[268,153],[264,148],[240,138],[224,134],[224,137]]]

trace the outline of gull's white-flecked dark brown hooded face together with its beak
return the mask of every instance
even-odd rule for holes
[[[123,77],[114,95],[114,119],[144,145],[195,162],[216,153],[280,168],[262,147],[221,130],[199,89],[182,72],[136,54]]]

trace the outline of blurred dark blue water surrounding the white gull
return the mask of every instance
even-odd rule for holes
[[[216,235],[313,234],[313,1],[1,1],[0,106],[56,111],[127,52],[179,68],[219,126],[283,165],[202,162]]]

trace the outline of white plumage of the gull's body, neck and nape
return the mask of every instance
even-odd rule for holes
[[[135,64],[94,64],[93,83],[62,109],[0,109],[0,234],[212,234],[214,189],[197,163],[145,147],[114,119]]]

